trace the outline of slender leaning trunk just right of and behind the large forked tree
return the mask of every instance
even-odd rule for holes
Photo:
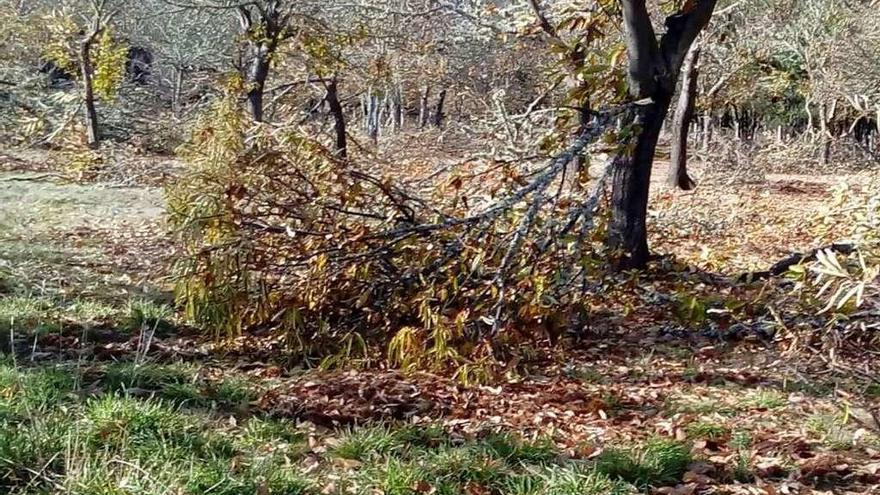
[[[694,181],[687,173],[688,130],[694,116],[697,96],[697,78],[699,75],[700,47],[694,45],[688,52],[681,68],[681,87],[679,88],[678,105],[672,119],[672,152],[669,163],[667,183],[683,191],[694,188]]]

